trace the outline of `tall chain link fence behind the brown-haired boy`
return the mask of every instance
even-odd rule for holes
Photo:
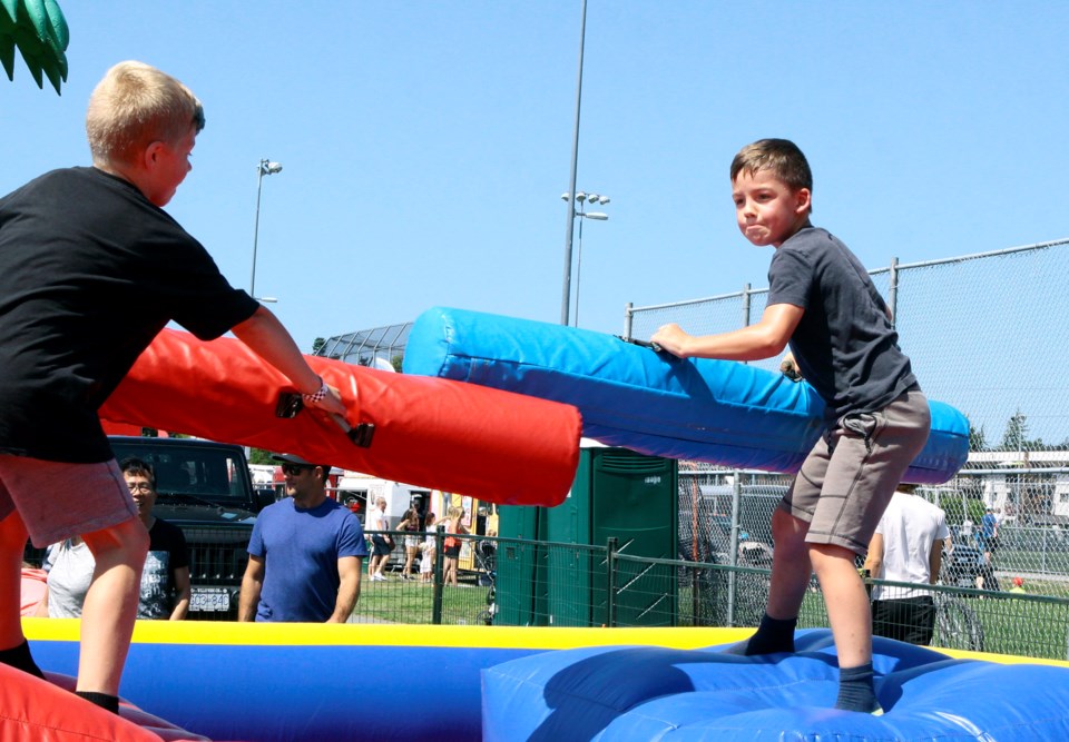
[[[970,421],[969,463],[947,484],[919,491],[947,512],[958,565],[949,578],[958,587],[990,593],[1020,582],[1032,595],[1069,596],[1067,273],[1069,239],[910,265],[892,260],[870,271],[925,394]],[[697,335],[727,332],[757,321],[767,294],[747,285],[628,307],[625,333],[646,338],[669,321]],[[754,363],[772,372],[778,364]],[[680,462],[681,558],[759,566],[772,546],[766,511],[788,484],[786,476]]]

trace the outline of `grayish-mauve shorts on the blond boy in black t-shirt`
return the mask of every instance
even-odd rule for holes
[[[114,458],[65,464],[0,455],[0,520],[16,509],[38,548],[137,517]]]

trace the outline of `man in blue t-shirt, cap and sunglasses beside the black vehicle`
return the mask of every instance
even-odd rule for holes
[[[364,531],[326,496],[331,467],[290,454],[288,497],[265,507],[248,542],[238,621],[345,623],[360,597]]]

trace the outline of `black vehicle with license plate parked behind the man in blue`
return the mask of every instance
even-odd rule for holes
[[[110,438],[115,457],[136,456],[153,466],[158,497],[153,514],[186,536],[193,596],[189,617],[237,617],[237,597],[248,562],[256,513],[273,493],[253,489],[241,446],[190,438]]]

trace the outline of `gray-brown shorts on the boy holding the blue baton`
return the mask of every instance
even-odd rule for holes
[[[879,412],[840,418],[813,446],[779,507],[810,524],[806,543],[867,553],[930,427],[931,410],[919,387]]]

